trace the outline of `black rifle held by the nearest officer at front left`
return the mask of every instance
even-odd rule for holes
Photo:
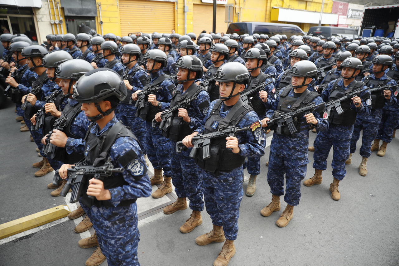
[[[93,165],[78,165],[76,164],[72,168],[68,168],[68,181],[62,189],[60,195],[65,197],[69,189],[73,185],[70,203],[75,203],[79,200],[83,186],[91,178],[104,180],[106,177],[110,177],[113,173],[122,173],[123,168],[114,168],[114,166],[107,162],[105,165],[94,167]],[[93,196],[89,198],[94,199]]]

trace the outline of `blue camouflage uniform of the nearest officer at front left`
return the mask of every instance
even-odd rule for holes
[[[114,117],[101,130],[96,124],[91,128],[90,133],[99,136],[115,123],[117,123],[117,119]],[[128,206],[117,205],[122,200],[150,196],[151,183],[148,173],[146,173],[144,155],[138,143],[131,137],[117,138],[111,146],[108,155],[114,167],[123,167],[118,163],[118,159],[130,150],[133,150],[138,155],[138,163],[142,169],[140,171],[141,179],[134,179],[134,177],[138,177],[135,176],[137,172],[125,169],[121,174],[114,174],[122,175],[125,185],[109,189],[111,199],[108,201],[114,205],[113,207],[87,207],[81,204],[90,221],[93,223],[99,246],[110,266],[140,265],[137,258],[137,246],[140,240],[140,232],[137,228],[137,204],[134,202]]]

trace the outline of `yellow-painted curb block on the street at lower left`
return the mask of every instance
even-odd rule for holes
[[[41,212],[0,224],[0,239],[61,219],[69,214],[67,205],[59,205]]]

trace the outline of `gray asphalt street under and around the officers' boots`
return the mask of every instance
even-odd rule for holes
[[[29,141],[29,132],[20,132],[21,124],[15,117],[11,102],[0,110],[0,224],[66,204],[65,198],[49,194],[51,191],[46,185],[52,181],[52,173],[34,177],[37,169],[32,163],[41,158],[35,151],[35,144]],[[271,133],[267,135],[270,136]],[[310,145],[315,137],[316,134],[310,132]],[[275,224],[286,206],[283,197],[279,212],[269,217],[260,214],[271,201],[265,166],[270,139],[267,145],[256,193],[251,198],[244,195],[241,202],[236,254],[229,265],[399,265],[398,138],[388,145],[385,157],[373,152],[367,163],[366,177],[358,174],[361,157],[356,151],[340,183],[339,201],[330,198],[331,152],[327,170],[322,173],[323,183],[301,186],[300,204],[294,207],[294,217],[285,228]],[[306,179],[314,174],[312,155],[309,153]],[[246,187],[247,181],[243,189]],[[188,234],[180,233],[179,227],[190,217],[191,210],[170,215],[161,211],[162,206],[173,202],[175,197],[171,193],[158,200],[138,200],[140,264],[212,265],[223,243],[207,246],[195,243],[197,236],[212,229],[209,215],[204,210],[200,226]],[[95,248],[82,249],[77,245],[79,239],[89,235],[89,232],[73,232],[80,220],[82,218],[77,221],[64,218],[47,228],[42,226],[23,236],[0,240],[0,266],[84,265]]]

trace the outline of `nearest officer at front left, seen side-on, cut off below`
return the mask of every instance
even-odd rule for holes
[[[96,90],[99,87],[101,94]],[[136,200],[148,197],[151,185],[140,144],[133,133],[117,121],[113,112],[125,97],[124,82],[111,69],[90,71],[74,86],[74,100],[81,103],[85,115],[94,122],[85,138],[83,165],[101,166],[109,162],[114,168],[123,167],[122,173],[113,173],[103,181],[86,180],[82,189],[81,206],[93,221],[96,232],[93,238],[97,238],[99,245],[86,265],[99,265],[105,258],[108,265],[140,265]],[[100,145],[99,137],[109,139],[109,144]],[[67,178],[67,169],[71,167],[61,167],[62,179]],[[79,245],[87,242],[88,239],[80,240]]]

